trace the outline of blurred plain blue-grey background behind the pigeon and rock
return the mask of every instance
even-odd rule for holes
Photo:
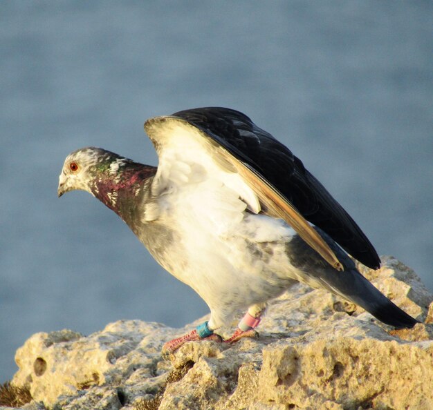
[[[142,124],[185,108],[246,113],[433,289],[432,15],[427,1],[2,1],[0,382],[35,332],[208,312],[108,208],[56,195],[82,146],[156,164]]]

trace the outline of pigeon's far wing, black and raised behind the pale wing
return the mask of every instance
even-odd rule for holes
[[[374,246],[344,208],[301,160],[246,115],[220,107],[194,108],[173,114],[200,128],[275,186],[312,224],[347,253],[372,269],[380,267]]]

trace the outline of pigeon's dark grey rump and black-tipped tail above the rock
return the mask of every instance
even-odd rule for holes
[[[313,255],[311,251],[304,248],[304,246],[300,246],[300,242],[298,242],[297,246],[303,248],[304,251],[302,255],[303,266],[300,267],[301,270],[308,275],[308,280],[303,282],[309,282],[310,284],[315,284],[315,287],[328,289],[332,293],[340,295],[344,297],[344,299],[361,306],[380,320],[380,322],[395,326],[397,329],[411,328],[418,323],[418,320],[415,320],[412,316],[402,311],[396,304],[383,295],[383,293],[378,291],[373,284],[365,279],[358,269],[356,269],[355,264],[349,256],[347,256],[328,235],[319,229],[317,229],[317,231],[324,237],[324,240],[328,242],[329,246],[331,246],[338,260],[342,262],[344,271],[336,271],[326,262],[323,263],[324,261],[318,259],[320,255],[311,250],[315,253]],[[295,242],[297,242],[297,240]]]

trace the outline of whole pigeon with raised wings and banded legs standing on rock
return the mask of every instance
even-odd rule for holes
[[[189,341],[221,341],[215,331],[239,309],[246,314],[224,342],[257,337],[266,303],[296,282],[326,289],[396,329],[418,322],[356,269],[351,257],[380,267],[356,222],[249,117],[194,108],[148,119],[145,131],[158,167],[81,148],[66,157],[57,194],[80,189],[98,198],[208,304],[210,319],[166,342],[164,354]]]

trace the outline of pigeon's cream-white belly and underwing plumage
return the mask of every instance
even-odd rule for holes
[[[259,198],[224,148],[194,126],[167,118],[147,124],[147,133],[159,157],[148,215],[174,229],[180,242],[165,255],[170,272],[203,297],[217,326],[234,309],[263,302],[257,295],[281,293],[290,266],[284,244],[293,229],[259,214]],[[255,255],[255,242],[277,242],[271,260]]]

